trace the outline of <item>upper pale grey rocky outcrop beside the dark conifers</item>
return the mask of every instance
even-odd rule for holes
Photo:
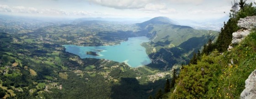
[[[256,16],[247,16],[245,18],[240,18],[237,26],[242,29],[232,34],[232,44],[240,43],[245,38],[245,36],[250,34],[251,30],[256,29]]]

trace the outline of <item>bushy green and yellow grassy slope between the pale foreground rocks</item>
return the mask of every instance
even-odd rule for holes
[[[239,99],[245,80],[256,69],[255,60],[256,32],[252,32],[230,52],[220,55],[215,51],[203,56],[197,65],[185,66],[171,99]]]

